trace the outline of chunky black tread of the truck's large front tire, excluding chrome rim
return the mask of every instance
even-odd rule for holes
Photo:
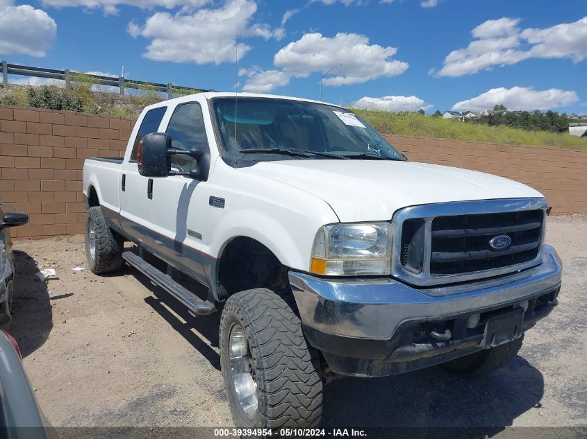
[[[320,362],[317,351],[306,343],[299,318],[282,295],[267,289],[241,291],[227,300],[223,318],[225,313],[238,315],[251,338],[263,424],[257,427],[313,428],[320,424],[322,415]],[[235,409],[238,407],[231,406],[233,418]]]

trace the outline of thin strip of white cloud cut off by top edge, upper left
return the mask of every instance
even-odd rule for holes
[[[152,9],[156,6],[172,9],[181,6],[182,8],[199,8],[211,3],[212,0],[41,0],[45,6],[55,8],[83,7],[87,9],[102,8],[106,15],[117,14],[118,6],[129,5],[142,9]]]

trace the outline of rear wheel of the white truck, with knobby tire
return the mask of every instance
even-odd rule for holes
[[[122,237],[113,232],[99,206],[85,217],[85,259],[92,273],[110,273],[122,266]]]

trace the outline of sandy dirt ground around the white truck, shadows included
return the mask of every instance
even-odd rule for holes
[[[587,426],[587,217],[549,218],[560,305],[481,377],[443,368],[325,387],[324,426]],[[218,313],[193,318],[137,270],[92,275],[82,236],[17,241],[11,332],[56,427],[230,427]],[[45,284],[38,264],[56,270]],[[81,266],[82,271],[72,268]]]

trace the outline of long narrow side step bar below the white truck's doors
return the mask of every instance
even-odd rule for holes
[[[142,257],[135,255],[133,252],[124,252],[122,257],[131,266],[149,277],[154,284],[160,286],[183,303],[196,316],[207,316],[216,311],[216,307],[212,302],[201,300],[197,295],[175,282],[174,279],[149,264]]]

